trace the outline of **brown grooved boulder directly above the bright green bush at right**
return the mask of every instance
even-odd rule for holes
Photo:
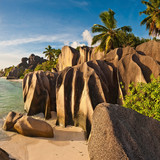
[[[119,96],[124,99],[132,82],[151,82],[151,74],[156,78],[160,75],[160,66],[152,57],[136,53],[122,58],[117,67]]]

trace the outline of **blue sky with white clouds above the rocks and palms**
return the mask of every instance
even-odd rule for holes
[[[91,27],[109,8],[118,27],[129,25],[136,36],[149,38],[140,26],[140,0],[0,0],[0,69],[31,53],[43,56],[48,45],[90,45]]]

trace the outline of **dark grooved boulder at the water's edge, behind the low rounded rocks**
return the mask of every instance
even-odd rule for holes
[[[56,111],[56,79],[58,74],[37,71],[27,74],[23,80],[24,109],[28,115]]]

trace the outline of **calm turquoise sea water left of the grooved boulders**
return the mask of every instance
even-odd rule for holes
[[[0,78],[0,118],[10,111],[23,112],[22,82]]]

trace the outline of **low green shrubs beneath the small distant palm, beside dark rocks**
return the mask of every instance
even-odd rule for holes
[[[42,64],[38,64],[34,71],[39,71],[39,70],[51,71],[51,69],[56,68],[57,61],[46,61],[43,62]]]

